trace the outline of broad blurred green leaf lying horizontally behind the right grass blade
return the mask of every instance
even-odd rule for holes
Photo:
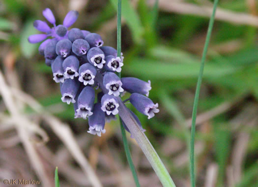
[[[153,79],[180,79],[195,78],[198,74],[200,64],[198,63],[172,63],[160,60],[134,58],[124,63],[124,71],[137,76]],[[216,63],[208,63],[205,67],[203,77],[221,77],[240,70],[239,67],[230,65],[218,66]]]

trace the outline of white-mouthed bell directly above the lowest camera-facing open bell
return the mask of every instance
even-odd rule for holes
[[[124,89],[122,89],[122,82],[120,78],[113,72],[105,73],[103,77],[103,85],[106,89],[108,89],[108,94],[114,94],[116,97],[120,94],[120,92],[124,91]]]

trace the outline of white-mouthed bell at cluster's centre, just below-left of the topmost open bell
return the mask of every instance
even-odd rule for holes
[[[89,63],[83,64],[79,68],[79,81],[84,83],[86,86],[87,84],[92,85],[94,84],[94,78],[96,76],[97,70],[94,66]]]

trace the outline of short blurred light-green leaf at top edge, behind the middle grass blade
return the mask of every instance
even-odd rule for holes
[[[117,0],[111,0],[115,8],[117,8]],[[127,25],[129,26],[133,39],[136,43],[140,43],[143,35],[143,26],[140,22],[139,16],[133,9],[129,0],[122,0],[122,15]]]

